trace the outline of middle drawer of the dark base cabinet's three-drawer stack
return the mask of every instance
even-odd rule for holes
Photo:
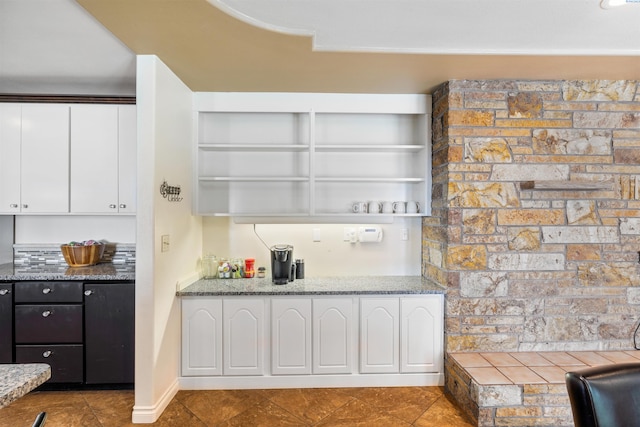
[[[81,304],[23,304],[15,307],[17,344],[81,343]]]

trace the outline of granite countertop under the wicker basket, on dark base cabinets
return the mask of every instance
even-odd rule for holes
[[[89,267],[67,264],[0,264],[0,280],[135,280],[135,265],[100,263]]]

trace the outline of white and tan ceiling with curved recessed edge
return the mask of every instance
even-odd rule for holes
[[[599,1],[0,0],[0,94],[134,95],[136,54],[194,91],[640,79],[640,4]]]

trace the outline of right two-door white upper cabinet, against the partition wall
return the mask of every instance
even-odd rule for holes
[[[135,106],[71,106],[71,212],[135,212],[134,173]]]

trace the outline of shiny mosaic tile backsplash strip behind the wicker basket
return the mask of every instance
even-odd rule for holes
[[[135,264],[136,245],[134,243],[107,243],[101,262],[113,264]],[[60,245],[15,244],[13,245],[13,263],[15,265],[66,264]]]

